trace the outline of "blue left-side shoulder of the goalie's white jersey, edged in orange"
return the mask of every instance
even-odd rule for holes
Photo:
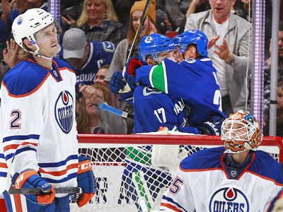
[[[188,156],[180,163],[180,170],[197,171],[221,168],[221,155],[224,153],[224,146],[206,148]]]

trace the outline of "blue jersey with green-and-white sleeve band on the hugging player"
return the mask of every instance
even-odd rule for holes
[[[208,57],[186,59],[179,64],[164,59],[157,66],[136,70],[136,83],[143,83],[176,98],[190,107],[190,125],[197,126],[212,115],[226,117],[221,109],[221,93],[216,69]]]

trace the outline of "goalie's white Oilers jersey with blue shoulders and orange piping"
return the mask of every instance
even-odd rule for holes
[[[282,189],[282,167],[263,151],[251,151],[240,170],[229,168],[226,156],[224,147],[218,147],[185,158],[161,210],[265,212]]]

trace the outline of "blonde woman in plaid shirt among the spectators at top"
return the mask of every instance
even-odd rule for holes
[[[62,16],[62,22],[83,30],[88,41],[110,41],[117,45],[125,38],[125,30],[117,21],[111,0],[84,0],[79,19]]]

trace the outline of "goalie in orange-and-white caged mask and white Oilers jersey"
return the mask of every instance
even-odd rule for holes
[[[224,147],[185,158],[164,194],[161,210],[265,212],[283,186],[283,172],[269,154],[257,151],[259,122],[239,110],[221,126]]]

